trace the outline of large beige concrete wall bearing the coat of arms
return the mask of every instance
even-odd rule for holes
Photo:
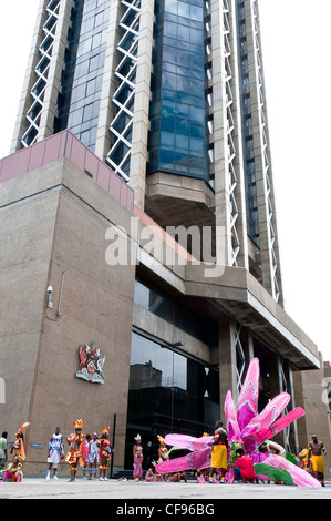
[[[82,418],[85,433],[110,426],[112,437],[116,415],[114,464],[122,467],[135,266],[106,264],[105,233],[131,214],[66,159],[2,183],[1,194],[0,377],[7,402],[0,430],[13,441],[29,420],[24,471],[44,472],[56,426],[68,436]],[[53,309],[46,308],[50,282]],[[104,385],[75,376],[79,346],[92,340],[106,356]]]

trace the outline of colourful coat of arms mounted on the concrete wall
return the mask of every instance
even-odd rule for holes
[[[104,384],[103,366],[106,357],[101,355],[100,349],[95,347],[95,341],[81,344],[79,347],[80,370],[77,378],[91,381],[92,384]]]

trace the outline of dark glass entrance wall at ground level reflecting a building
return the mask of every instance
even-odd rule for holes
[[[200,437],[219,419],[219,374],[157,340],[132,335],[125,468],[134,437],[142,436],[145,468],[157,459],[157,436]],[[177,456],[177,454],[176,454]]]

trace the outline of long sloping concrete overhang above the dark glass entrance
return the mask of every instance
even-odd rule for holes
[[[159,242],[165,248],[175,247],[174,239],[144,212],[135,207],[134,215],[143,226],[159,231]],[[153,273],[159,284],[166,284],[178,296],[209,302],[220,315],[248,327],[266,347],[289,360],[293,370],[320,368],[317,345],[248,269],[220,266],[216,270],[213,265],[197,263],[185,248],[178,252],[182,262],[172,265],[164,262],[167,258],[164,253],[159,257],[151,257],[142,242],[138,252],[141,266],[145,266],[151,275]]]

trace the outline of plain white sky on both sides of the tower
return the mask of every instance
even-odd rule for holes
[[[38,7],[1,1],[0,157],[9,154]],[[259,9],[285,307],[331,360],[331,0],[259,0]]]

